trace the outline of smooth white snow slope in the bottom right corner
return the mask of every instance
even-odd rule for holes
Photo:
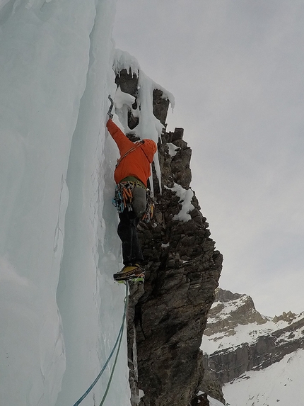
[[[226,406],[303,406],[304,350],[223,386]]]

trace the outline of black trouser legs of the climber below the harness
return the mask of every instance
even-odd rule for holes
[[[122,240],[122,259],[124,265],[141,264],[144,261],[144,257],[136,230],[139,218],[133,210],[129,211],[125,208],[122,213],[119,213],[119,219],[117,233]]]

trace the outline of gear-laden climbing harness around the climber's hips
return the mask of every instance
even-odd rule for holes
[[[153,217],[154,201],[151,195],[151,191],[148,188],[144,187],[144,184],[141,184],[141,182],[125,181],[117,184],[112,203],[117,208],[118,213],[122,213],[125,208],[127,208],[128,211],[133,210],[133,191],[134,187],[136,186],[140,186],[146,190],[146,210],[142,217],[142,220],[144,220],[145,222],[149,222]]]

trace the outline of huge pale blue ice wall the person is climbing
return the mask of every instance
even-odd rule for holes
[[[115,3],[0,0],[1,406],[73,406],[122,324],[118,151],[105,123],[113,62],[134,60],[114,50]],[[154,85],[142,74],[151,138]],[[100,405],[113,362],[82,406]],[[128,373],[124,332],[105,406],[130,405]]]

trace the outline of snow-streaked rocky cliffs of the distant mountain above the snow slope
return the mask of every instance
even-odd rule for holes
[[[286,357],[303,351],[304,313],[264,317],[250,296],[218,288],[202,349],[206,352],[205,366],[220,385],[249,377],[250,371],[268,371],[270,366],[282,366]],[[215,395],[214,388],[216,385],[210,385],[210,394]]]

